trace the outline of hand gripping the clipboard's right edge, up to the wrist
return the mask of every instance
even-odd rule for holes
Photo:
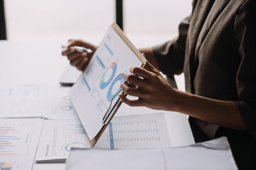
[[[124,74],[122,91],[130,96],[139,97],[137,100],[129,100],[124,95],[119,95],[124,103],[129,106],[146,106],[159,110],[173,110],[177,91],[162,77],[160,72],[149,62],[144,69],[132,67],[132,74]],[[128,82],[137,85],[137,88],[128,86]]]

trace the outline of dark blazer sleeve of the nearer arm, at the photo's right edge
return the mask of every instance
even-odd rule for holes
[[[235,38],[239,46],[240,65],[236,77],[242,119],[256,139],[256,1],[245,1],[235,18]]]

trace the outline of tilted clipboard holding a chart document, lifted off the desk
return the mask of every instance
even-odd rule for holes
[[[85,71],[70,89],[70,99],[92,147],[122,104],[123,74],[144,67],[145,57],[113,23]]]

